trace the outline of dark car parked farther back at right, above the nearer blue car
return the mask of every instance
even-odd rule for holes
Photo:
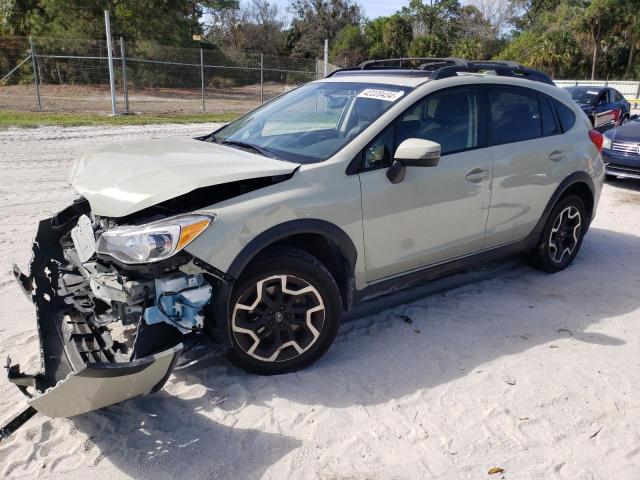
[[[631,105],[614,88],[580,86],[567,87],[566,90],[596,130],[604,132],[629,121]]]

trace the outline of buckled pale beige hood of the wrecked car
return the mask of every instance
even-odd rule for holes
[[[80,157],[71,184],[96,215],[124,217],[197,188],[292,173],[285,162],[195,139],[114,143]]]

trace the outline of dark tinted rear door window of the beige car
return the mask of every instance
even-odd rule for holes
[[[495,145],[542,136],[536,92],[521,88],[491,88],[489,102]]]

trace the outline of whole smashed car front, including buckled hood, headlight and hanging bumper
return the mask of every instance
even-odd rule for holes
[[[35,411],[70,417],[155,392],[205,334],[229,346],[234,279],[185,247],[216,221],[209,207],[299,167],[189,139],[125,150],[76,160],[70,181],[81,197],[38,224],[29,272],[14,267],[36,307],[41,365],[25,373],[7,359],[30,405],[8,430]]]

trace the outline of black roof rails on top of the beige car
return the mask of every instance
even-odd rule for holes
[[[524,67],[516,62],[463,60],[454,57],[404,57],[367,60],[354,68],[336,70],[330,73],[328,77],[336,74],[372,74],[384,72],[392,75],[425,76],[431,80],[440,80],[442,78],[454,77],[460,72],[485,73],[487,71],[491,71],[498,76],[525,78],[535,82],[554,85],[553,80],[551,80],[547,74],[533,68]]]

